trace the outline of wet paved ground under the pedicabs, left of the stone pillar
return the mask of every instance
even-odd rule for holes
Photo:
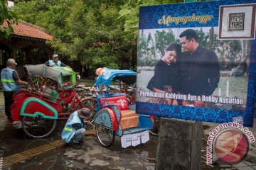
[[[65,121],[58,122],[53,135],[38,140],[5,122],[0,108],[0,169],[1,156],[3,169],[154,169],[158,141],[154,136],[144,145],[127,149],[121,147],[120,137],[107,149],[88,136],[82,149],[76,150],[60,140]]]

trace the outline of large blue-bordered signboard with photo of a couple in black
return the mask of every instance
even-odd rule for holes
[[[255,1],[139,9],[137,113],[252,126]]]

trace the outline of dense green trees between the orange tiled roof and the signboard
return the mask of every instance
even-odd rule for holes
[[[22,20],[46,28],[54,37],[48,44],[68,60],[80,60],[92,70],[135,69],[139,6],[177,2],[183,1],[31,0],[19,2],[14,9]],[[162,41],[168,45],[169,38]],[[163,50],[156,45],[156,50]],[[156,50],[151,48],[151,54]]]

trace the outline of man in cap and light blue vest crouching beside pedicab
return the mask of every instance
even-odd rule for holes
[[[90,117],[89,108],[81,108],[72,113],[65,124],[63,132],[61,133],[61,138],[64,142],[70,143],[71,147],[74,149],[82,148],[82,137],[85,136],[85,128],[87,128],[87,125],[92,127],[92,123],[89,120]]]

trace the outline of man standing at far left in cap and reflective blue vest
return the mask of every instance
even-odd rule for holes
[[[21,89],[20,85],[28,85],[27,82],[21,81],[18,77],[18,72],[15,68],[17,63],[14,59],[7,60],[7,67],[1,71],[1,84],[4,91],[4,106],[5,113],[7,115],[8,124],[11,124],[13,120],[11,119],[11,104],[14,103],[13,94],[15,91]]]

